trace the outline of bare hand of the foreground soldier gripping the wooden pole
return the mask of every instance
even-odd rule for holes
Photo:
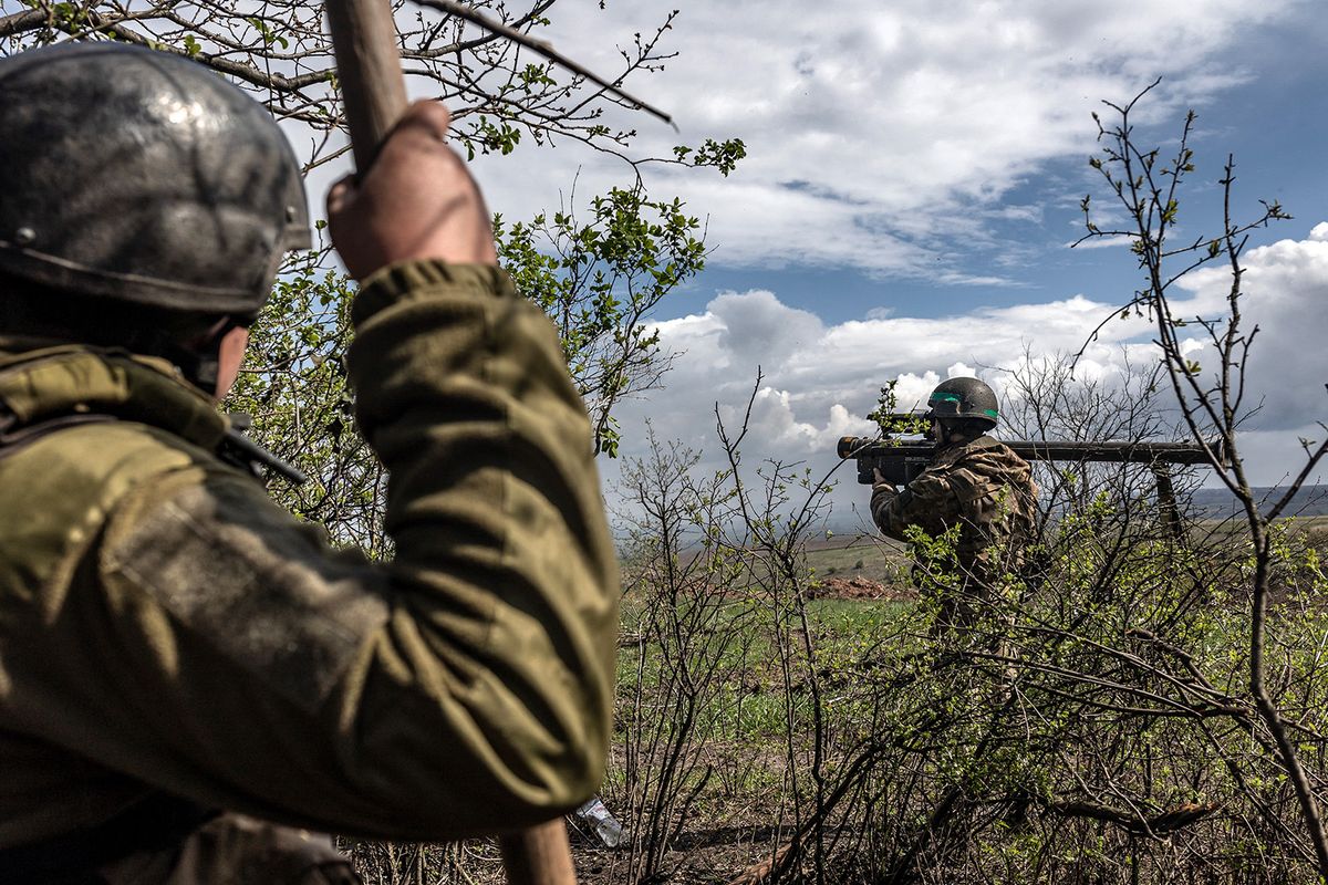
[[[328,191],[328,230],[347,271],[363,280],[397,261],[498,264],[479,186],[445,139],[452,114],[418,101],[364,175]]]

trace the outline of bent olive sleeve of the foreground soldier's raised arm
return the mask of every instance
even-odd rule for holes
[[[114,650],[66,736],[283,823],[444,840],[547,820],[603,776],[619,596],[558,338],[506,275],[441,263],[381,272],[353,320],[393,561],[329,551],[235,472],[163,478],[110,520]]]

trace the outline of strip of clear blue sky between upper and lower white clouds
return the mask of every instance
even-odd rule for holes
[[[1251,31],[1260,37],[1251,42],[1260,46],[1262,53],[1271,36],[1284,37],[1287,28],[1268,28],[1267,33]],[[1195,94],[1183,105],[1195,107],[1199,114],[1191,141],[1199,169],[1190,179],[1183,207],[1183,219],[1193,219],[1191,230],[1215,227],[1220,218],[1216,180],[1228,153],[1235,155],[1235,196],[1246,215],[1259,210],[1256,200],[1276,199],[1295,216],[1256,234],[1255,243],[1303,239],[1317,222],[1328,218],[1328,114],[1324,113],[1328,101],[1323,93],[1328,56],[1312,52],[1303,37],[1287,48],[1303,49],[1293,53],[1299,64],[1288,64],[1274,53],[1266,66],[1250,66],[1247,82]],[[1138,81],[1139,86],[1146,84],[1146,80]],[[1163,80],[1159,92],[1167,88]],[[1121,101],[1127,97],[1102,98]],[[1155,122],[1141,127],[1143,139],[1174,143],[1183,117],[1181,102],[1185,102],[1183,94],[1169,102],[1175,113],[1150,114]],[[1100,106],[1098,110],[1105,114],[1109,109]],[[1149,110],[1147,105],[1143,110]],[[1090,138],[1094,123],[1086,113],[1080,123],[1084,137]],[[983,239],[947,241],[946,248],[938,249],[935,273],[874,273],[797,261],[784,267],[730,263],[724,255],[724,244],[714,243],[710,269],[681,297],[671,300],[661,318],[704,309],[716,291],[749,288],[776,291],[785,304],[814,309],[831,322],[861,318],[879,308],[938,316],[984,305],[1050,300],[1073,292],[1112,300],[1137,279],[1122,251],[1068,248],[1082,234],[1077,200],[1088,192],[1097,200],[1109,198],[1096,172],[1086,166],[1092,150],[1093,146],[1085,143],[1082,150],[1044,161],[1021,175],[985,207],[988,220]],[[1008,218],[1003,218],[1001,211]],[[947,276],[997,277],[1000,283],[956,281]],[[833,292],[833,297],[826,297],[827,292]]]

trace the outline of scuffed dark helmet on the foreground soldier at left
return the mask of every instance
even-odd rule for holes
[[[169,312],[251,317],[309,244],[271,114],[179,56],[113,42],[0,60],[0,272]]]

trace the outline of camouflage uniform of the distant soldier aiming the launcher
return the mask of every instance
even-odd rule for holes
[[[946,590],[942,626],[972,624],[976,613],[968,600],[989,598],[1003,573],[1019,571],[1033,537],[1036,504],[1028,462],[985,435],[938,451],[903,491],[888,484],[871,491],[871,515],[890,537],[907,540],[910,525],[931,536],[959,525],[957,585]],[[930,584],[923,577],[923,588]]]

